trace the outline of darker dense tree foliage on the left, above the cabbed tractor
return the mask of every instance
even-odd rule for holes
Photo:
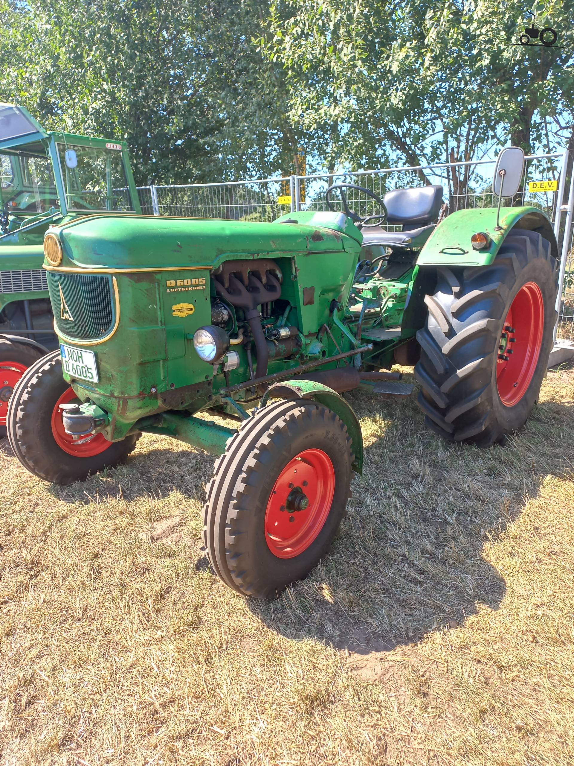
[[[140,184],[291,165],[285,74],[251,42],[265,2],[4,0],[2,11],[0,100],[48,128],[127,139]]]

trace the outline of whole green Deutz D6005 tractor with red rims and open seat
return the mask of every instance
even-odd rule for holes
[[[523,175],[508,151],[499,203]],[[142,433],[219,454],[207,555],[231,588],[261,598],[307,575],[344,516],[363,463],[344,391],[407,394],[389,370],[419,357],[419,402],[440,436],[488,446],[522,426],[556,318],[550,222],[499,205],[437,226],[437,186],[383,199],[361,189],[379,212],[360,217],[347,188],[331,187],[331,211],[271,224],[103,213],[47,231],[60,350],[11,399],[21,463],[67,484],[126,460]]]

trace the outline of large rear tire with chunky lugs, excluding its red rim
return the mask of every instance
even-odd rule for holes
[[[552,350],[557,277],[550,242],[524,229],[507,236],[491,266],[438,270],[435,291],[425,298],[426,326],[416,336],[418,401],[429,428],[447,440],[489,447],[523,426]],[[499,344],[510,306],[527,283],[538,286],[543,302],[540,353],[530,383],[523,378],[523,394],[509,406],[497,385]]]

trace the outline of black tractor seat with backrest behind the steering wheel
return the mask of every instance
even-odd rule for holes
[[[386,224],[402,225],[403,231],[385,231],[376,226],[363,229],[363,247],[422,247],[435,228],[442,205],[442,186],[393,189],[383,197]]]

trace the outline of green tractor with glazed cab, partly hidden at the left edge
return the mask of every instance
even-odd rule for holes
[[[0,437],[21,375],[58,345],[44,234],[96,211],[141,211],[126,145],[47,133],[0,103]]]

